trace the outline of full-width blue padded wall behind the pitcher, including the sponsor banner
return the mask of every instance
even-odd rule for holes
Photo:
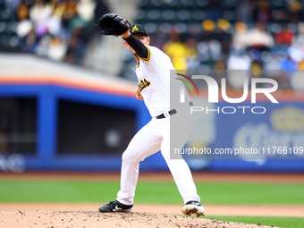
[[[23,165],[20,171],[120,171],[121,154],[103,153],[99,156],[83,153],[81,155],[64,154],[58,156],[56,134],[58,100],[60,99],[115,108],[117,112],[132,110],[136,114],[136,131],[139,131],[150,120],[147,108],[143,102],[135,97],[123,97],[85,89],[57,85],[2,84],[0,85],[1,97],[34,97],[37,99],[38,139],[36,154],[22,156],[19,160],[22,162],[19,165]],[[219,106],[223,105],[219,103]],[[215,140],[209,147],[224,148],[227,145],[229,147],[268,147],[266,142],[269,140],[277,146],[304,146],[303,102],[280,102],[277,106],[265,103],[264,106],[267,109],[266,114],[216,114],[214,120]],[[294,116],[299,118],[294,119]],[[286,124],[282,124],[282,122]],[[238,159],[195,159],[187,160],[187,162],[192,170],[198,171],[304,172],[303,159],[297,157],[293,157],[295,159],[273,158],[266,156],[265,159],[246,160],[238,157]],[[0,169],[4,170],[5,159],[9,158],[1,156],[1,159]],[[161,154],[156,153],[140,164],[140,170],[167,171],[168,169]]]

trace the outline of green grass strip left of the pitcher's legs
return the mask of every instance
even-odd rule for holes
[[[118,182],[0,181],[0,202],[107,202]]]

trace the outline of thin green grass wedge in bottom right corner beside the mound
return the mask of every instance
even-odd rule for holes
[[[204,218],[244,224],[274,225],[275,227],[283,228],[304,227],[304,217],[206,216]]]

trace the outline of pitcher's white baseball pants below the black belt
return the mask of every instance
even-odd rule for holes
[[[121,190],[116,198],[122,204],[133,204],[139,177],[139,162],[159,150],[165,158],[184,203],[190,200],[200,200],[188,164],[184,159],[170,159],[170,119],[172,118],[178,120],[180,132],[184,136],[182,139],[181,137],[173,139],[175,148],[183,148],[194,133],[198,116],[188,114],[185,118],[179,112],[163,119],[152,118],[147,125],[140,129],[122,154]],[[176,129],[175,126],[174,129]]]

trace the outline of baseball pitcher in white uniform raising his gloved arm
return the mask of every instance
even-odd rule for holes
[[[131,139],[128,148],[122,154],[121,190],[117,198],[99,207],[99,211],[131,211],[139,176],[139,162],[161,150],[182,195],[182,213],[204,215],[205,209],[199,202],[200,198],[189,166],[183,159],[170,159],[170,119],[178,119],[181,124],[181,135],[184,137],[171,139],[171,146],[178,148],[183,148],[197,126],[197,116],[183,112],[184,104],[192,106],[190,97],[186,96],[183,105],[176,103],[176,106],[170,108],[170,93],[172,97],[179,97],[182,83],[180,80],[173,80],[170,85],[170,71],[174,70],[170,58],[155,46],[149,46],[148,33],[139,24],[130,25],[120,16],[107,13],[101,17],[98,26],[103,35],[121,36],[124,46],[134,56],[138,63],[136,75],[139,80],[135,95],[145,102],[152,117],[151,121]]]

